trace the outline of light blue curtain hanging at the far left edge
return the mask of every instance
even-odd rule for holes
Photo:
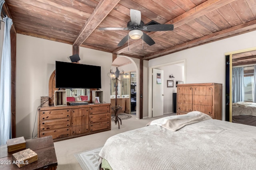
[[[0,74],[0,145],[11,139],[11,38],[12,19],[4,20],[4,42]]]

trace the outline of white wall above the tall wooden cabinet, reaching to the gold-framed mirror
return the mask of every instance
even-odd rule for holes
[[[222,84],[222,119],[225,115],[225,60],[224,53],[256,47],[256,31],[222,39],[198,47],[158,57],[149,61],[150,66],[186,59],[186,83]]]

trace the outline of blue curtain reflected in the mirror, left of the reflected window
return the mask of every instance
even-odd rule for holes
[[[232,68],[232,102],[244,102],[244,67]]]

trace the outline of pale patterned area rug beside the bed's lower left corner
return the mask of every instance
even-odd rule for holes
[[[82,170],[98,170],[99,153],[102,147],[74,154]]]

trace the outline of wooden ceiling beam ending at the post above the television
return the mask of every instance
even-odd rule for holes
[[[88,18],[83,28],[74,41],[75,46],[80,46],[89,35],[98,27],[98,25],[106,18],[111,10],[118,4],[120,0],[100,0],[92,15]]]

